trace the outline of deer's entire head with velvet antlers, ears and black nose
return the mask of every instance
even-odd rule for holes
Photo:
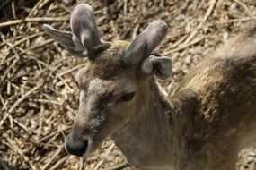
[[[167,32],[163,21],[150,23],[131,43],[108,43],[99,36],[91,6],[78,4],[71,14],[70,26],[71,32],[43,27],[71,55],[89,58],[89,66],[75,76],[81,91],[80,104],[66,139],[68,153],[86,157],[113,132],[136,119],[137,108],[146,97],[146,83],[154,75],[169,78],[172,59],[152,55]]]

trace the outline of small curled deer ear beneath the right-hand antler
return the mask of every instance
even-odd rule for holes
[[[142,72],[155,74],[159,79],[166,80],[172,75],[172,58],[150,55],[141,64]]]

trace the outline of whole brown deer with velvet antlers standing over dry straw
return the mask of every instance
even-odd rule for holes
[[[93,8],[77,4],[71,31],[43,28],[71,55],[88,58],[75,74],[79,107],[67,153],[88,157],[110,137],[137,169],[231,170],[241,149],[256,146],[256,29],[204,57],[169,97],[157,83],[172,76],[172,57],[155,52],[164,21],[131,42],[107,42]]]

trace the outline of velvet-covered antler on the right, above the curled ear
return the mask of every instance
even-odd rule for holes
[[[164,21],[153,21],[130,44],[124,56],[128,64],[139,64],[158,47],[167,33]]]

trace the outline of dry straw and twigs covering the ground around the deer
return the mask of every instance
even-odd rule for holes
[[[97,170],[124,161],[110,140],[86,160],[63,149],[78,105],[73,75],[86,59],[67,54],[42,24],[69,30],[79,2],[93,6],[109,41],[135,38],[156,19],[168,23],[159,51],[174,61],[172,79],[161,82],[169,95],[190,67],[256,21],[256,0],[0,1],[0,157],[12,169]],[[255,152],[244,151],[237,169],[256,169],[255,159]]]

